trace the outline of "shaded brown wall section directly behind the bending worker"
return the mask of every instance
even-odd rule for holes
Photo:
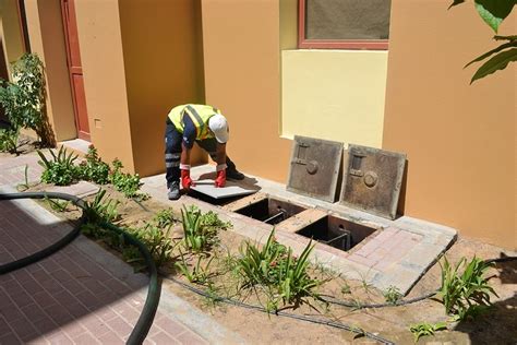
[[[121,0],[120,27],[135,170],[165,170],[166,116],[204,103],[201,1]],[[192,163],[205,159],[195,150]]]

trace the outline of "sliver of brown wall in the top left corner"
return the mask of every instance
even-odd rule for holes
[[[25,52],[16,2],[17,0],[0,0],[2,44],[9,70],[11,62]]]

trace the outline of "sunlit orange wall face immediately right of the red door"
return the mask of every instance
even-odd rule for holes
[[[92,142],[134,172],[119,1],[75,0],[75,11]]]

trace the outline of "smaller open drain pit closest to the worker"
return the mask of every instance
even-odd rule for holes
[[[289,203],[287,201],[265,198],[242,209],[235,210],[235,212],[273,225],[284,222],[285,219],[304,210],[305,207]]]

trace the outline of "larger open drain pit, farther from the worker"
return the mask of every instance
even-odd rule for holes
[[[297,234],[348,251],[375,230],[372,227],[328,215],[298,230]]]

